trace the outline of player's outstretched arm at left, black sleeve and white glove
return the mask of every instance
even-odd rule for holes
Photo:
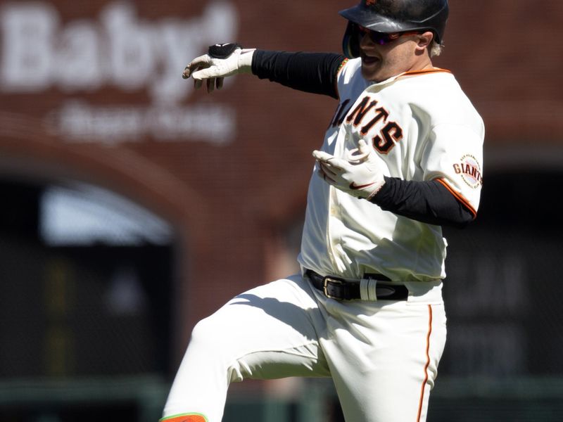
[[[215,44],[207,54],[191,60],[182,77],[191,76],[196,88],[205,80],[210,92],[222,87],[224,77],[253,73],[286,87],[338,98],[336,77],[344,60],[344,56],[336,53],[288,53]]]

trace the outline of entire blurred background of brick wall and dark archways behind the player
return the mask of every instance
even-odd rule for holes
[[[180,75],[217,42],[340,51],[355,1],[0,1],[0,421],[156,421],[198,319],[296,271],[332,98]],[[429,422],[563,421],[559,0],[450,0],[486,124],[479,217],[445,230]],[[224,421],[343,421],[329,380],[246,381]]]

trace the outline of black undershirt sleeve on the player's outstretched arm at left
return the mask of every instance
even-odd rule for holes
[[[286,87],[338,98],[336,76],[345,57],[336,53],[256,50],[252,72]]]

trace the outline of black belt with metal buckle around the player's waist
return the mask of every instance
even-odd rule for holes
[[[361,299],[360,282],[349,281],[334,276],[322,276],[315,271],[308,269],[305,271],[312,285],[321,290],[327,298],[336,300],[355,300]],[[365,274],[365,279],[377,281],[391,281],[381,274]],[[409,290],[404,284],[377,284],[377,300],[407,300]]]

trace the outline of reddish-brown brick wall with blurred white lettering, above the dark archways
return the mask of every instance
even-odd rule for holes
[[[217,41],[339,51],[346,1],[0,1],[0,170],[80,179],[145,205],[181,245],[177,342],[275,274],[336,108],[241,75],[208,96],[180,74]],[[445,51],[487,148],[558,143],[563,3],[452,0]],[[224,39],[229,37],[229,39]],[[559,43],[560,44],[560,43]],[[180,347],[178,347],[180,348]]]

